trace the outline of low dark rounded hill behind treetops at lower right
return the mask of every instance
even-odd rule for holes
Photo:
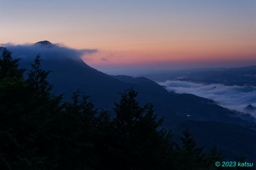
[[[173,129],[175,141],[189,127],[189,131],[196,137],[197,144],[210,149],[214,144],[231,160],[235,156],[244,157],[249,161],[256,158],[256,131],[238,125],[219,122],[199,122],[188,120]],[[231,141],[231,142],[230,142]],[[181,141],[180,141],[181,142]]]

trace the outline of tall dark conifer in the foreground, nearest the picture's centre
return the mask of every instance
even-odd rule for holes
[[[116,145],[121,151],[116,164],[122,169],[160,169],[170,136],[159,129],[162,119],[156,119],[151,104],[139,106],[137,94],[133,88],[126,90],[115,103]]]

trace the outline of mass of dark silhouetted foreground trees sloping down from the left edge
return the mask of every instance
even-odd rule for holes
[[[120,93],[111,119],[79,91],[70,103],[52,94],[39,56],[26,80],[18,61],[6,49],[0,58],[0,169],[217,169],[224,160],[188,130],[177,144],[133,88]]]

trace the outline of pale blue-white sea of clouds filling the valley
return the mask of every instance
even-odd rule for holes
[[[198,84],[183,81],[166,81],[159,83],[168,91],[190,93],[211,99],[220,106],[228,109],[250,113],[256,117],[256,111],[245,110],[248,105],[256,106],[256,87],[254,86],[225,86],[223,84]]]

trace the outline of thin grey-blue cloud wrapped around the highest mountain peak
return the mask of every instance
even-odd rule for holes
[[[38,45],[38,44],[1,44],[13,53],[13,58],[34,59],[40,54],[41,59],[74,59],[78,60],[84,55],[98,52],[96,49],[81,49],[66,47],[62,44]],[[3,48],[2,48],[3,49]],[[1,50],[1,49],[0,49]]]

